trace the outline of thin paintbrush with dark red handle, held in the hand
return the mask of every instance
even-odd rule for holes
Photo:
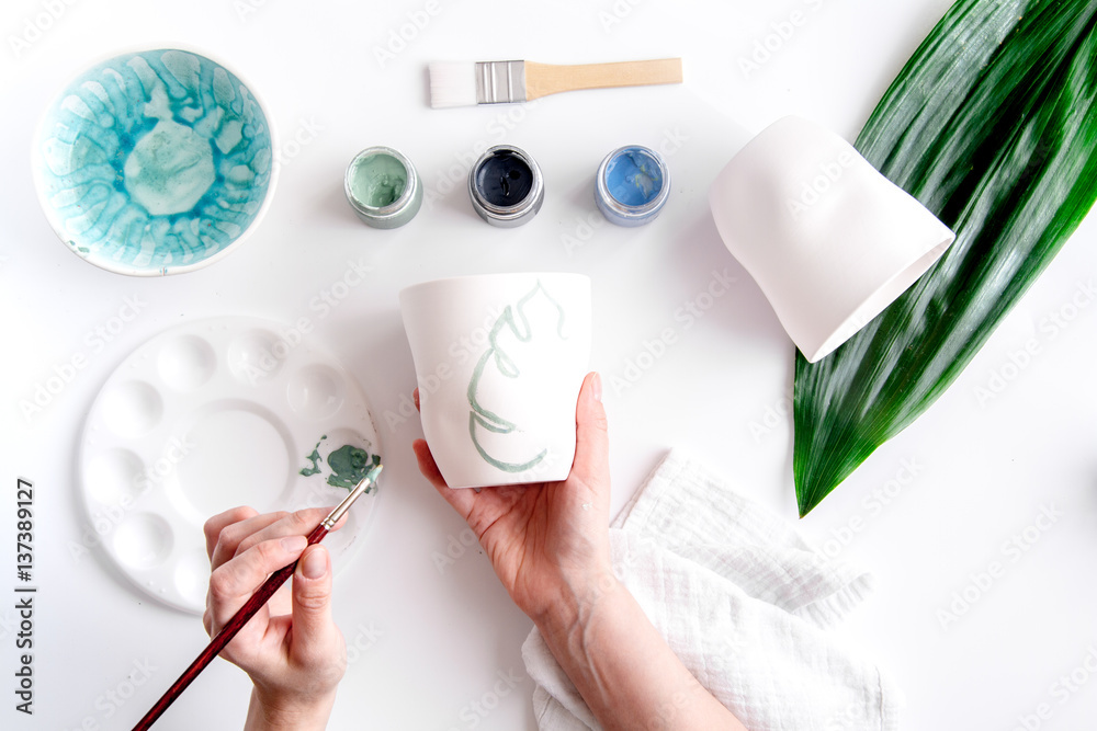
[[[336,505],[336,509],[332,510],[326,518],[320,521],[320,524],[316,526],[310,534],[308,534],[309,546],[324,540],[324,537],[328,535],[328,532],[331,530],[331,528],[335,527],[336,523],[339,522],[339,518],[341,518],[343,514],[350,510],[350,506],[354,503],[354,501],[358,500],[359,496],[365,494],[370,487],[377,481],[377,476],[381,475],[381,465],[371,469],[366,476],[362,478],[362,481],[350,491],[350,494],[347,495],[341,503]],[[137,722],[137,726],[134,727],[134,731],[145,731],[156,722],[156,719],[160,718],[163,711],[168,710],[168,706],[174,703],[176,698],[182,695],[183,690],[186,689],[186,686],[199,676],[199,673],[205,670],[206,665],[213,662],[213,659],[225,649],[225,646],[228,644],[234,637],[236,637],[236,633],[239,632],[246,624],[248,624],[248,620],[251,619],[257,612],[259,612],[260,607],[267,604],[270,597],[274,595],[274,592],[279,590],[279,586],[284,584],[286,579],[293,575],[296,568],[297,562],[294,561],[290,566],[283,567],[272,573],[267,581],[263,582],[263,585],[259,587],[259,591],[252,594],[251,598],[248,599],[242,607],[240,607],[239,612],[233,615],[233,618],[228,621],[228,624],[225,625],[219,632],[217,632],[216,637],[210,640],[210,644],[206,646],[206,649],[203,650],[194,662],[191,663],[190,667],[183,671],[183,674],[179,676],[179,679],[172,683],[167,693],[160,696],[160,699],[156,701],[156,705],[152,706],[147,713],[145,713],[145,718]]]

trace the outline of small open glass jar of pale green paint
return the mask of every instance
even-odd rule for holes
[[[358,217],[374,228],[404,226],[422,205],[415,165],[391,147],[369,147],[354,156],[343,191]]]

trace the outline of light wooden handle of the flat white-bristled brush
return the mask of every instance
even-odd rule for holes
[[[680,58],[618,64],[581,64],[578,66],[554,66],[525,61],[527,100],[575,89],[646,87],[657,83],[681,83],[681,81],[682,59]]]

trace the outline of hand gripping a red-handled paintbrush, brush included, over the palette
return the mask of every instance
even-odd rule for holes
[[[245,507],[206,522],[213,575],[203,621],[213,640],[135,731],[151,727],[218,654],[239,665],[255,683],[248,728],[275,717],[294,729],[325,727],[346,669],[347,649],[331,620],[330,560],[325,549],[313,544],[337,526],[380,472],[380,465],[371,469],[327,517],[319,510],[284,516],[258,515]],[[306,538],[303,533],[309,528],[313,530]],[[268,606],[291,575],[290,610],[285,602]],[[229,644],[235,637],[244,641]]]

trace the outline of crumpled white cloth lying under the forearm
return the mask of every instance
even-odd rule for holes
[[[827,631],[871,589],[727,482],[670,453],[610,528],[614,571],[687,669],[750,731],[894,731],[901,694]],[[542,731],[601,729],[536,628]]]

